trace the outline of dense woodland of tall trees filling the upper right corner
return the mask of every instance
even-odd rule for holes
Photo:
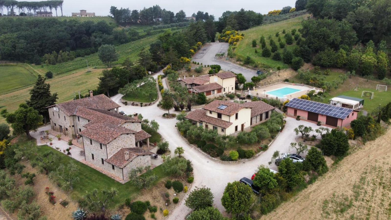
[[[389,0],[297,0],[296,10],[303,9],[315,18],[302,22],[303,38],[295,39],[294,49],[307,53],[301,53],[304,61],[385,78],[391,36],[391,20],[385,16],[391,10]]]

